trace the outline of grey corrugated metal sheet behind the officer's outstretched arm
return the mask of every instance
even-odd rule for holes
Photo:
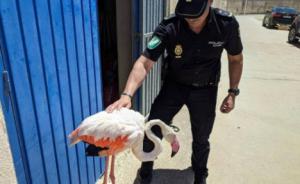
[[[164,16],[164,0],[143,0],[142,1],[142,50],[150,41],[152,32],[161,22]],[[143,114],[150,111],[151,104],[157,96],[161,86],[161,59],[154,65],[151,72],[148,74],[141,88],[140,107]]]

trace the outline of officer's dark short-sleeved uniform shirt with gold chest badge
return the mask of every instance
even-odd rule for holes
[[[221,55],[242,52],[239,24],[229,12],[210,8],[200,33],[176,16],[163,20],[155,29],[143,55],[156,61],[167,51],[169,73],[184,84],[218,82]],[[182,81],[180,81],[182,80]]]

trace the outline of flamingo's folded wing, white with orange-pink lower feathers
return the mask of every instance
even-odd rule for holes
[[[114,141],[127,141],[134,132],[143,131],[144,117],[132,110],[121,109],[113,113],[102,111],[86,118],[70,134],[71,144],[84,140],[96,146],[108,146]],[[134,141],[132,138],[131,141]]]

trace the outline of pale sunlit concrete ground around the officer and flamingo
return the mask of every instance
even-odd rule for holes
[[[300,46],[286,42],[286,30],[263,28],[261,19],[238,17],[244,43],[241,94],[232,113],[217,111],[210,139],[209,184],[300,183]],[[218,106],[228,89],[223,57]],[[164,152],[155,161],[153,184],[192,184],[186,107],[174,124],[181,128],[181,150],[171,159],[164,142]],[[133,184],[139,161],[127,151],[116,162],[117,184]]]

